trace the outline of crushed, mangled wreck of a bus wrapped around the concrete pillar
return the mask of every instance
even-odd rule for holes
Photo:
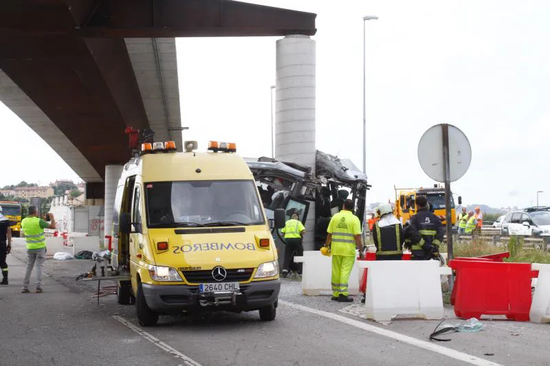
[[[355,214],[363,222],[366,191],[371,186],[367,184],[366,175],[349,159],[318,151],[315,173],[311,168],[294,162],[267,157],[245,160],[259,186],[268,218],[272,216],[272,209],[283,208],[287,219],[296,212],[304,225],[308,218],[313,222],[313,227],[306,225],[305,250],[322,247],[328,222],[342,208],[343,196],[354,201]],[[314,210],[310,209],[311,203],[315,204]],[[285,246],[281,233],[273,232],[279,258],[284,258]]]

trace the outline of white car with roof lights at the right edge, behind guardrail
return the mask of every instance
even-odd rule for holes
[[[550,207],[531,207],[507,214],[500,235],[550,236]]]

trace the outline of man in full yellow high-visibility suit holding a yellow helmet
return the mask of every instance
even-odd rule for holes
[[[361,222],[352,213],[352,210],[353,201],[344,201],[342,211],[332,217],[329,229],[327,229],[325,247],[330,247],[332,255],[333,296],[331,300],[333,301],[353,301],[353,298],[349,297],[349,275],[355,262],[355,249],[361,250],[363,242]]]

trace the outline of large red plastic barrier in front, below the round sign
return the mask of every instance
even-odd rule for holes
[[[529,321],[531,278],[536,275],[529,263],[478,260],[451,260],[456,271],[454,314],[462,319],[482,314],[505,315]]]

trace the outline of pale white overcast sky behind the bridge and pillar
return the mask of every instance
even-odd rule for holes
[[[550,2],[248,1],[318,14],[316,144],[362,167],[366,23],[368,201],[393,187],[430,186],[417,146],[449,123],[470,139],[472,163],[452,183],[463,203],[550,205]],[[335,4],[339,5],[335,5]],[[245,157],[271,154],[270,86],[279,37],[179,38],[184,139],[234,141]],[[0,186],[78,176],[0,104]],[[24,142],[24,144],[21,144]],[[30,144],[28,144],[30,143]],[[25,150],[32,146],[31,150]],[[12,153],[15,152],[15,153]],[[47,163],[36,164],[36,159]]]

